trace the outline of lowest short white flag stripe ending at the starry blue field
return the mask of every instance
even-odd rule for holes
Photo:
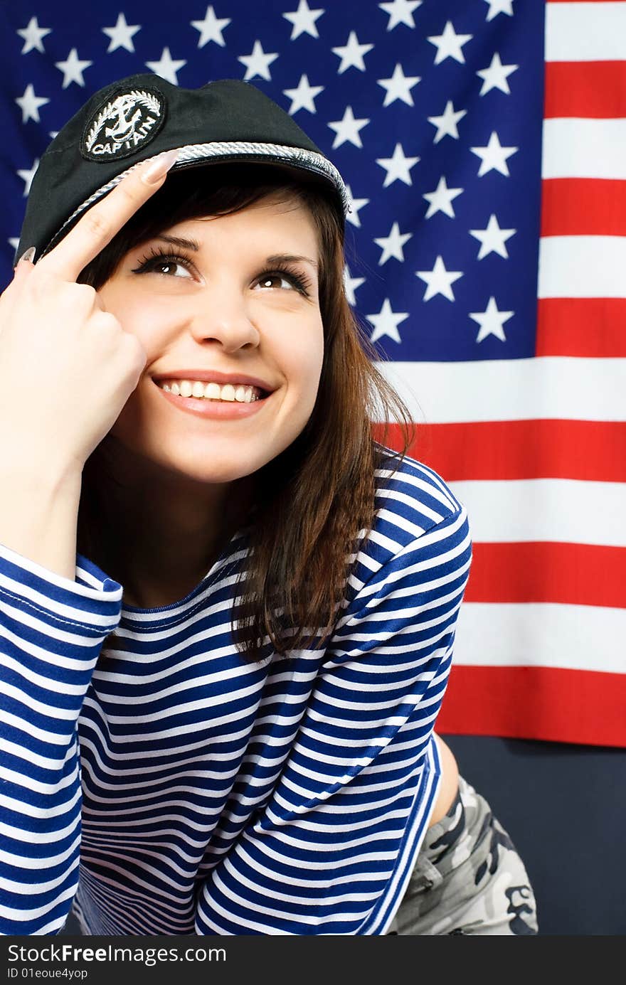
[[[626,236],[543,237],[537,296],[626,297]]]

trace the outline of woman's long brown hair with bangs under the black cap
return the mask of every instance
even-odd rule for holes
[[[268,194],[303,203],[319,242],[319,307],[324,354],[313,414],[292,444],[257,471],[253,523],[233,638],[258,659],[266,636],[277,653],[313,644],[332,633],[359,547],[375,518],[375,469],[395,468],[415,427],[405,404],[376,368],[380,355],[355,319],[343,285],[343,230],[317,185],[262,164],[213,165],[172,174],[164,187],[85,268],[80,280],[97,290],[129,249],[166,228],[201,216],[238,212]],[[373,425],[383,422],[382,440]],[[400,452],[386,445],[397,422]],[[104,438],[106,441],[106,438]],[[79,551],[97,542],[98,449],[86,463],[79,508]],[[107,531],[114,537],[114,530]],[[233,622],[235,616],[233,607]]]

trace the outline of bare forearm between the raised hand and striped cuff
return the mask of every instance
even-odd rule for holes
[[[73,581],[82,474],[0,457],[0,544]]]

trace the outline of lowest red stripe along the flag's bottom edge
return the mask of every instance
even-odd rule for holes
[[[625,708],[623,674],[452,664],[437,731],[625,747]]]

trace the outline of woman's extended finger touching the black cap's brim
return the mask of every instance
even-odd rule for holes
[[[176,151],[166,151],[134,168],[78,221],[58,246],[39,260],[37,267],[64,281],[75,281],[115,233],[162,186],[176,157]]]

